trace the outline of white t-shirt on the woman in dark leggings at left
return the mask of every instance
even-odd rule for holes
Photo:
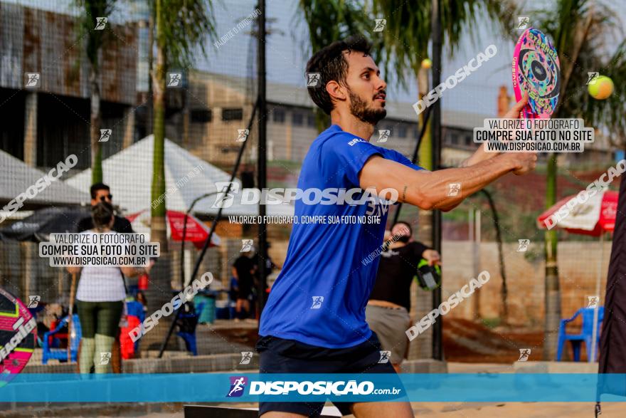
[[[80,234],[97,235],[93,230],[83,231]],[[102,232],[102,234],[117,234],[114,231]],[[97,237],[95,237],[97,239]],[[90,239],[94,242],[94,239]],[[80,272],[76,299],[83,302],[115,302],[124,301],[126,289],[124,288],[124,276],[119,267],[110,266],[85,266]]]

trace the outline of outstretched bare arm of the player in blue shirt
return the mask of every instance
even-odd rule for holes
[[[398,201],[421,209],[450,210],[487,184],[509,172],[525,174],[535,167],[534,153],[509,153],[460,167],[428,172],[411,169],[399,162],[373,155],[359,174],[361,189],[374,187],[378,192],[390,188],[398,191]],[[450,184],[460,184],[455,196],[449,196]],[[388,196],[390,197],[390,196]]]

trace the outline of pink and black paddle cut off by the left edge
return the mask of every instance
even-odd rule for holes
[[[31,360],[36,341],[33,315],[18,298],[0,288],[0,387]]]

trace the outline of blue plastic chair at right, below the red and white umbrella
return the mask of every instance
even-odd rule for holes
[[[595,357],[596,359],[591,358],[591,348],[592,343],[591,340],[593,338],[593,312],[594,308],[580,308],[576,311],[573,317],[568,319],[562,319],[561,325],[558,327],[558,348],[556,350],[556,361],[561,361],[561,356],[563,355],[563,347],[565,346],[566,341],[570,341],[572,345],[572,351],[574,353],[574,361],[580,361],[580,345],[584,342],[585,348],[587,349],[587,361],[593,362],[598,358],[598,343],[600,342],[600,325],[602,325],[602,320],[604,318],[604,306],[600,306],[598,308],[598,328],[596,328],[595,345]],[[578,315],[583,315],[583,328],[580,330],[579,334],[568,334],[566,333],[566,325],[571,323],[573,320],[578,318]]]

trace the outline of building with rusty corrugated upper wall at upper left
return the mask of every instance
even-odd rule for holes
[[[31,167],[53,167],[69,154],[79,156],[77,168],[90,166],[89,67],[76,19],[0,6],[0,147]],[[104,158],[134,140],[138,104],[137,26],[108,24],[115,39],[100,58],[102,127],[112,129]],[[27,74],[36,86],[26,87]]]

